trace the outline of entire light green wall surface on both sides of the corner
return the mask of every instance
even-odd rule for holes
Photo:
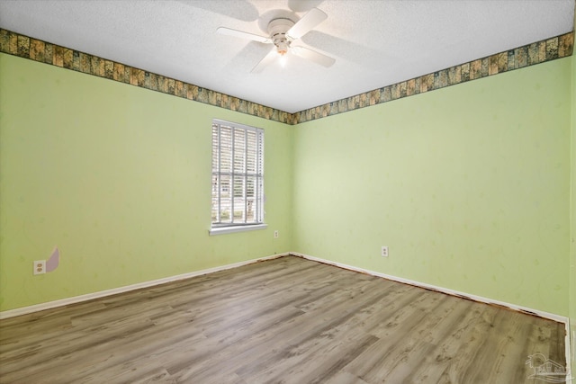
[[[296,251],[567,316],[573,61],[290,127],[0,54],[0,310]],[[207,235],[212,118],[266,129],[266,230]]]

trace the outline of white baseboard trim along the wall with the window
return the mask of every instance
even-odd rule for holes
[[[165,284],[166,282],[190,279],[190,278],[195,277],[195,276],[201,276],[202,274],[225,271],[225,270],[228,270],[231,268],[238,268],[238,267],[243,266],[243,265],[247,265],[247,264],[251,264],[251,263],[258,263],[258,262],[265,261],[265,260],[272,260],[272,259],[276,259],[278,257],[287,256],[287,255],[290,255],[290,254],[285,253],[285,254],[259,257],[257,259],[251,259],[251,260],[247,260],[244,262],[231,263],[231,264],[222,265],[222,266],[218,266],[218,267],[214,267],[214,268],[208,268],[208,269],[205,269],[202,271],[187,272],[187,273],[178,274],[175,276],[168,276],[168,277],[165,277],[162,279],[138,282],[136,284],[126,285],[124,287],[112,288],[111,290],[100,290],[100,291],[94,292],[94,293],[87,293],[85,295],[74,296],[71,298],[48,301],[46,303],[40,303],[40,304],[32,305],[29,307],[4,310],[4,311],[0,312],[0,319],[27,315],[27,314],[30,314],[33,312],[39,312],[40,310],[58,308],[58,307],[63,307],[63,306],[67,306],[70,304],[76,304],[76,303],[79,303],[82,301],[99,299],[99,298],[103,298],[106,296],[116,295],[118,293],[129,292],[130,290],[140,290],[142,288],[148,288],[148,287],[153,287],[155,285]]]

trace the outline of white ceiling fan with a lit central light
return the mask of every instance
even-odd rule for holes
[[[311,31],[320,22],[328,18],[328,15],[318,8],[312,8],[308,13],[302,16],[298,22],[293,22],[290,19],[281,17],[273,19],[268,23],[269,37],[260,36],[254,33],[232,30],[225,27],[220,27],[216,31],[220,34],[234,36],[238,38],[258,41],[265,44],[274,44],[275,48],[272,49],[250,72],[259,73],[277,58],[282,61],[285,55],[290,51],[296,56],[306,58],[320,66],[330,67],[336,61],[314,49],[302,47],[301,45],[293,45],[294,40],[300,39],[306,33]]]

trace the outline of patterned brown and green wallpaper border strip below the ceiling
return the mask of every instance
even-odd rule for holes
[[[364,94],[289,113],[0,28],[0,52],[289,125],[423,94],[556,58],[566,58],[572,56],[573,49],[574,31],[571,31]]]

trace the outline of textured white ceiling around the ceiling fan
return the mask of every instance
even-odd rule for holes
[[[329,68],[291,56],[251,74],[271,47],[216,33],[266,35],[311,7],[328,19],[302,42],[336,58]],[[573,16],[574,0],[0,0],[6,30],[284,112],[561,35]]]

